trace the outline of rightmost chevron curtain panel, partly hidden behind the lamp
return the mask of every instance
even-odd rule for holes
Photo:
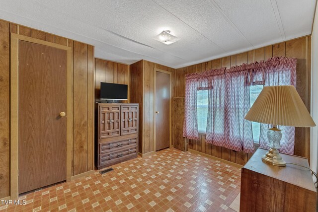
[[[271,58],[266,61],[267,66],[264,67],[264,86],[275,85],[294,85],[296,86],[296,58]],[[267,130],[271,128],[268,124],[260,126],[259,146],[269,149]],[[278,149],[280,152],[294,154],[295,147],[295,127],[278,126],[282,130],[282,147]]]

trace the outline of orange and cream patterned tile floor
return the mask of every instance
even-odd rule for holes
[[[238,167],[173,148],[112,168],[28,193],[20,197],[26,205],[0,211],[233,212],[240,190]]]

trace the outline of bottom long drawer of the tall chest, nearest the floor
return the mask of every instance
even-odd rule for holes
[[[127,158],[137,156],[137,145],[129,146],[128,148],[120,148],[111,152],[99,155],[99,166],[113,164],[115,162],[122,162]]]

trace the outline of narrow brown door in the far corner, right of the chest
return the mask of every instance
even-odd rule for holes
[[[170,74],[156,71],[156,151],[170,146]]]

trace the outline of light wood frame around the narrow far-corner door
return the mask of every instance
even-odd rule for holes
[[[159,72],[162,72],[162,73],[166,73],[166,74],[169,74],[169,78],[170,78],[170,81],[169,81],[169,84],[170,84],[170,98],[169,98],[169,148],[172,148],[173,145],[171,144],[171,121],[172,121],[172,118],[171,118],[171,99],[172,99],[172,95],[171,95],[171,72],[170,71],[164,71],[164,70],[161,70],[161,69],[157,69],[155,68],[154,69],[154,152],[156,152],[156,75],[157,75],[157,71]]]

